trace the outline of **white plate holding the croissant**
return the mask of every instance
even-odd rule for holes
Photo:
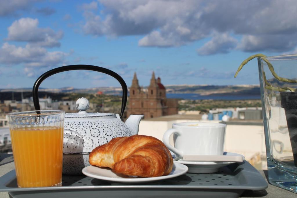
[[[105,167],[96,167],[96,166],[88,166],[83,168],[83,174],[96,178],[102,179],[107,181],[113,182],[120,182],[120,183],[138,183],[138,182],[150,182],[150,181],[157,181],[162,179],[174,178],[179,175],[185,174],[188,171],[188,167],[181,163],[176,163],[174,161],[172,171],[169,175],[160,176],[160,177],[150,177],[150,178],[132,178],[125,175],[117,175],[111,171],[110,168]]]

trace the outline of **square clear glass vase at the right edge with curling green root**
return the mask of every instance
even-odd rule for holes
[[[268,182],[297,193],[297,54],[258,58],[258,66]]]

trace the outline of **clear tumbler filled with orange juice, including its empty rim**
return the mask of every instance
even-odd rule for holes
[[[61,186],[64,111],[8,114],[18,187]]]

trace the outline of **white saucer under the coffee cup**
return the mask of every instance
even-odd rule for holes
[[[229,156],[242,156],[244,159],[244,156],[237,153],[230,153],[230,152],[224,152],[224,155]],[[173,154],[173,158],[176,158],[176,156]],[[218,172],[219,168],[227,166],[229,164],[233,164],[236,162],[213,162],[213,161],[183,161],[182,159],[178,161],[174,161],[176,163],[185,164],[189,170],[189,173],[212,173],[212,172]]]

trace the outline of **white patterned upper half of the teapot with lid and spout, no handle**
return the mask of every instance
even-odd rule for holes
[[[64,121],[64,154],[88,154],[99,145],[108,143],[115,137],[138,134],[143,115],[130,115],[124,123],[119,114],[87,113],[89,101],[76,101],[78,113],[66,113]]]

